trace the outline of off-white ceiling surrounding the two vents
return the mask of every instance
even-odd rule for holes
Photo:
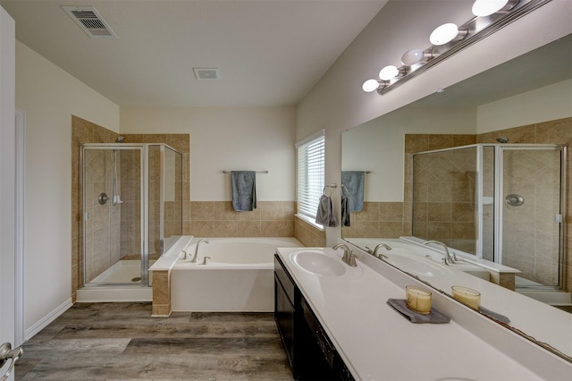
[[[21,43],[117,105],[147,107],[295,106],[386,2],[0,0]],[[94,6],[117,38],[89,38],[61,5]]]

